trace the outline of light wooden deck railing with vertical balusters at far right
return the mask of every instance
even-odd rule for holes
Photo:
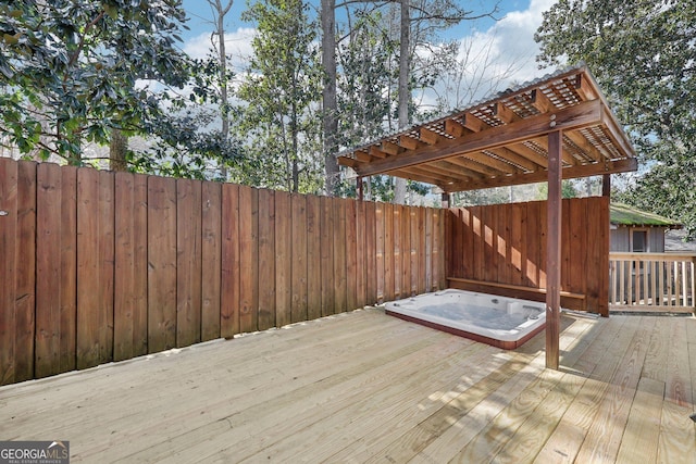
[[[696,309],[696,254],[612,252],[609,263],[611,309]]]

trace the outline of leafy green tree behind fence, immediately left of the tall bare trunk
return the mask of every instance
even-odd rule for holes
[[[269,187],[299,191],[302,183],[302,190],[314,191],[321,85],[316,24],[302,0],[257,2],[243,18],[258,29],[237,91],[247,103],[238,109],[237,129],[254,158],[256,166],[260,166],[262,173],[253,175],[263,175]]]

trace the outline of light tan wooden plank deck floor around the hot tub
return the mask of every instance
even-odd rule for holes
[[[694,463],[696,319],[562,317],[505,352],[341,314],[0,388],[0,439],[72,462]]]

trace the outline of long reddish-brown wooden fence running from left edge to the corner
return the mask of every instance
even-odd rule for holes
[[[0,381],[442,288],[442,210],[0,159]]]

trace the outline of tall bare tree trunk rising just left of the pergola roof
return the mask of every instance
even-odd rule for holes
[[[336,0],[322,0],[322,66],[324,68],[324,89],[322,91],[322,131],[324,152],[324,186],[326,195],[333,196],[338,184],[338,105],[336,102]]]

